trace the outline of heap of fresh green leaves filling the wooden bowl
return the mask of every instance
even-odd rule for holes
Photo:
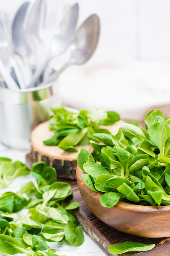
[[[121,125],[115,135],[93,134],[93,155],[82,149],[77,163],[82,179],[100,191],[104,207],[118,201],[132,204],[170,205],[170,117],[152,110],[146,130],[137,122]],[[102,143],[102,144],[101,144]]]

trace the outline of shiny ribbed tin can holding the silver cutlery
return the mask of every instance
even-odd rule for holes
[[[0,140],[19,150],[30,149],[31,131],[49,119],[51,106],[60,106],[58,81],[30,89],[0,87]]]

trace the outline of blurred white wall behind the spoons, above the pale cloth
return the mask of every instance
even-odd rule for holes
[[[51,0],[48,0],[49,2]],[[90,14],[101,20],[95,58],[170,60],[169,0],[54,0],[60,7],[79,3],[79,24]],[[14,15],[23,0],[0,0],[0,8]],[[95,59],[94,59],[95,60]]]

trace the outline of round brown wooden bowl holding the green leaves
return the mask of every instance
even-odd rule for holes
[[[142,206],[118,202],[114,207],[103,207],[101,193],[94,192],[82,180],[83,171],[77,166],[79,191],[91,211],[104,223],[121,232],[147,238],[170,236],[170,206]]]

